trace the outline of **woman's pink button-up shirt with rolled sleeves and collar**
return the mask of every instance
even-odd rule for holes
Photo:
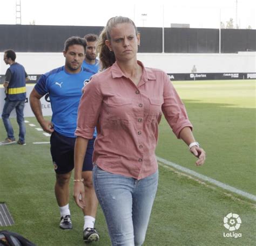
[[[162,112],[178,138],[185,126],[192,129],[184,104],[163,71],[143,66],[136,86],[114,63],[84,87],[76,136],[91,139],[96,126],[93,163],[107,172],[142,179],[158,168],[154,151]]]

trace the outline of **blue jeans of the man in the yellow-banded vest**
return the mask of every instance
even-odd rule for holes
[[[22,101],[10,101],[8,98],[6,98],[2,113],[2,119],[4,122],[4,127],[7,132],[8,138],[11,140],[15,140],[14,137],[14,129],[12,128],[9,116],[11,114],[12,110],[16,110],[17,115],[17,122],[19,125],[19,140],[21,142],[25,142],[25,133],[26,133],[26,127],[23,117],[23,111],[25,107],[25,100]]]

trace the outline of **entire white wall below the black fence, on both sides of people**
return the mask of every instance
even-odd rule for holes
[[[42,74],[64,65],[62,53],[16,53],[16,61],[28,74]],[[155,67],[166,73],[191,73],[193,65],[197,73],[251,73],[256,72],[256,52],[237,54],[184,54],[184,53],[138,53],[138,60],[146,67]],[[0,53],[0,74],[8,65]]]

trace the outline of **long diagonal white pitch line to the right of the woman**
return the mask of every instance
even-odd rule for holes
[[[183,166],[180,166],[176,163],[172,163],[171,161],[169,160],[165,160],[161,157],[158,157],[157,156],[157,160],[161,163],[164,163],[166,165],[169,165],[169,166],[172,166],[178,170],[180,170],[181,172],[184,172],[184,173],[187,173],[187,174],[190,174],[190,175],[193,175],[194,177],[197,177],[201,180],[204,180],[204,181],[207,181],[207,182],[210,182],[211,184],[213,185],[216,185],[220,188],[223,188],[223,189],[226,189],[227,191],[230,191],[230,192],[233,192],[235,194],[238,194],[238,195],[241,195],[241,196],[244,196],[245,198],[248,198],[248,199],[251,199],[253,201],[256,201],[256,195],[253,195],[253,194],[250,194],[248,192],[245,192],[245,191],[241,191],[240,189],[237,189],[237,188],[234,188],[230,185],[226,185],[224,184],[223,182],[220,182],[220,181],[217,181],[215,179],[212,179],[212,178],[209,178],[203,174],[200,174],[200,173],[197,173],[197,172],[194,172],[186,167],[183,167]]]

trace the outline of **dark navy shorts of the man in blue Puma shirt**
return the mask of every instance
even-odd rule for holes
[[[56,131],[51,134],[51,156],[55,172],[69,173],[74,168],[74,149],[76,138],[65,137]],[[85,153],[83,172],[92,171],[92,153],[95,138],[89,139]]]

